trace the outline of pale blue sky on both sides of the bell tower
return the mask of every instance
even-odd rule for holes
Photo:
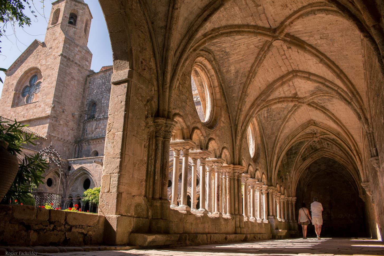
[[[44,13],[43,4],[39,1],[34,1],[36,10],[41,14],[36,14],[37,18],[32,17],[31,13],[26,7],[25,15],[31,18],[31,26],[25,26],[19,28],[15,26],[15,33],[13,33],[12,26],[6,28],[5,35],[0,38],[0,67],[8,68],[11,64],[22,54],[22,52],[33,42],[38,39],[44,41],[45,31],[48,25],[48,19],[51,12],[51,3],[54,0],[44,0]],[[99,71],[102,66],[112,65],[112,50],[111,42],[109,41],[109,35],[107,26],[105,23],[103,12],[101,11],[98,0],[84,0],[89,6],[92,13],[91,29],[89,30],[88,48],[91,50],[92,64],[91,69]],[[0,77],[5,78],[5,74],[0,72]],[[3,84],[0,83],[0,95],[3,90]]]

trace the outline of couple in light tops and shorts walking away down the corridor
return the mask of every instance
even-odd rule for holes
[[[323,217],[321,216],[322,211],[323,205],[318,202],[317,197],[314,197],[313,203],[311,203],[312,218],[308,209],[305,208],[305,203],[301,205],[301,208],[299,209],[298,223],[303,229],[303,239],[307,239],[307,226],[312,222],[317,239],[320,240],[321,225],[323,225]]]

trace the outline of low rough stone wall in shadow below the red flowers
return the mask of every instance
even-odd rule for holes
[[[80,246],[103,243],[104,216],[30,205],[0,205],[0,244]]]

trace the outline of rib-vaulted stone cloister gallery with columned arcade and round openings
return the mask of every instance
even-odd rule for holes
[[[298,237],[314,196],[324,235],[381,239],[381,1],[99,2],[114,62],[84,243]]]

